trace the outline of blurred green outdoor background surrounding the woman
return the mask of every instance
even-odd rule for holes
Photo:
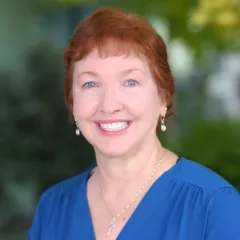
[[[40,194],[94,160],[68,123],[63,51],[104,5],[143,14],[167,44],[176,97],[162,143],[240,190],[239,0],[3,0],[0,240],[26,239]]]

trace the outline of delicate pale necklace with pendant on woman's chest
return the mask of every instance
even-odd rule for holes
[[[160,157],[160,160],[157,161],[153,171],[151,172],[151,175],[147,178],[147,180],[145,181],[145,183],[142,185],[142,187],[140,188],[140,190],[136,193],[136,195],[134,196],[134,198],[131,200],[131,202],[129,204],[127,204],[120,212],[118,212],[118,214],[114,217],[112,217],[112,220],[111,222],[109,223],[109,226],[108,226],[108,230],[107,232],[105,233],[106,236],[110,236],[111,235],[111,232],[113,230],[113,228],[115,227],[116,225],[116,221],[117,219],[121,216],[121,214],[123,214],[128,208],[130,208],[137,200],[137,198],[144,192],[144,191],[147,191],[147,187],[150,187],[148,186],[148,183],[150,182],[150,180],[152,180],[155,172],[157,171],[158,167],[161,166],[163,163],[163,153]],[[103,198],[103,202],[104,204],[106,205],[108,211],[111,213],[111,211],[109,210],[107,204],[106,204],[106,201],[103,197],[103,194],[102,194],[102,198]],[[112,214],[111,214],[112,215]]]

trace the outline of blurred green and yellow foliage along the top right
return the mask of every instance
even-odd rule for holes
[[[47,3],[65,7],[99,3],[159,17],[167,21],[170,39],[184,39],[203,62],[210,49],[240,51],[238,0],[49,0]]]

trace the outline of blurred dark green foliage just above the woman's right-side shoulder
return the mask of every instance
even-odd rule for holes
[[[189,159],[208,166],[240,190],[240,121],[188,122],[187,133],[170,147]]]

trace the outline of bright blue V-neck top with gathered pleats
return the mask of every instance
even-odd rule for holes
[[[90,168],[41,196],[28,240],[94,240]],[[210,169],[181,157],[149,189],[117,240],[240,240],[240,194]]]

